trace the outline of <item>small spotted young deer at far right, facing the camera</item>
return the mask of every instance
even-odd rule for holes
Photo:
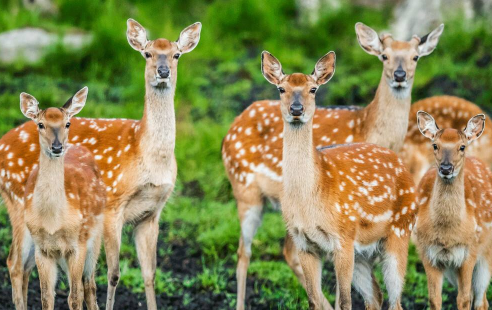
[[[470,143],[485,129],[485,115],[473,116],[462,130],[439,129],[424,111],[418,111],[417,123],[431,141],[435,163],[418,186],[414,230],[427,275],[430,308],[442,307],[445,276],[458,288],[458,309],[489,309],[492,173],[483,161],[466,155]]]

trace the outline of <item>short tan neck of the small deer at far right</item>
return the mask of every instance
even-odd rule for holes
[[[430,200],[431,219],[443,229],[453,229],[461,224],[466,213],[465,167],[450,182],[436,177]],[[436,172],[437,173],[437,172]]]

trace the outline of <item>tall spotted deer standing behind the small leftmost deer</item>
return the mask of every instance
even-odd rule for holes
[[[197,46],[200,31],[198,22],[186,27],[177,41],[148,40],[145,28],[128,19],[128,43],[145,59],[142,119],[71,120],[69,142],[92,152],[106,185],[103,239],[108,264],[107,309],[114,307],[120,278],[121,234],[126,223],[134,225],[147,307],[157,308],[154,278],[159,217],[173,192],[177,174],[174,156],[177,66],[180,57]],[[38,164],[36,130],[34,122],[27,122],[0,139],[0,192],[8,208],[22,205],[25,176]],[[12,178],[14,174],[16,177]],[[12,255],[22,257],[21,248],[14,250],[18,252]]]

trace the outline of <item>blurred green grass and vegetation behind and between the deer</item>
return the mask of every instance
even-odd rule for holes
[[[354,24],[362,21],[376,30],[388,29],[391,8],[345,5],[324,12],[319,22],[310,25],[299,21],[293,0],[57,0],[56,16],[27,11],[19,2],[0,0],[0,32],[34,26],[62,35],[78,28],[90,32],[93,42],[78,52],[67,51],[61,44],[54,46],[34,65],[22,60],[0,65],[0,134],[24,122],[19,111],[22,91],[47,107],[63,104],[87,85],[89,100],[82,116],[139,119],[144,59],[128,46],[126,19],[139,21],[151,39],[172,40],[187,25],[202,22],[198,47],[184,55],[179,65],[175,104],[178,183],[162,214],[156,289],[162,308],[235,307],[239,223],[220,144],[235,115],[254,100],[278,96],[261,76],[261,51],[276,55],[286,72],[311,72],[319,57],[334,50],[337,73],[320,89],[318,104],[365,105],[374,96],[382,66],[358,46]],[[488,110],[492,102],[491,34],[485,20],[463,22],[459,15],[447,20],[438,48],[419,61],[413,98],[454,94]],[[144,306],[145,301],[131,232],[131,227],[125,228],[119,309]],[[283,236],[280,214],[267,211],[249,269],[248,304],[252,309],[307,307],[302,287],[284,263]],[[10,238],[7,212],[1,207],[0,308],[7,309],[13,307],[5,265]],[[102,257],[100,294],[105,292],[105,268]],[[333,301],[331,270],[327,264],[324,289]],[[423,309],[426,278],[413,248],[408,271],[405,308]],[[33,279],[35,285],[35,274]],[[58,295],[63,297],[66,280],[59,287]],[[492,290],[489,293],[492,298]],[[30,300],[36,294],[33,288]],[[454,298],[455,291],[446,287],[446,309],[454,308]],[[102,300],[104,297],[100,305]]]

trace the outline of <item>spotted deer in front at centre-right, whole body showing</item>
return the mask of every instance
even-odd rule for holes
[[[393,151],[376,144],[316,147],[316,92],[333,77],[335,59],[329,52],[311,75],[286,75],[277,58],[262,53],[262,73],[279,90],[277,108],[284,123],[282,217],[298,251],[312,309],[332,309],[321,291],[325,256],[335,266],[337,308],[352,309],[351,284],[367,309],[381,308],[373,274],[375,260],[381,259],[390,309],[401,309],[417,211],[413,179]]]

